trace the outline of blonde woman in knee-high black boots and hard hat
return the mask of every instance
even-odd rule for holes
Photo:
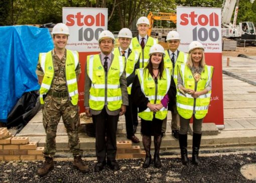
[[[203,118],[208,112],[211,97],[213,67],[207,66],[203,45],[193,41],[189,45],[186,64],[178,66],[177,110],[180,116],[179,143],[181,160],[188,163],[187,132],[193,118],[192,163],[198,164],[198,153],[202,136]]]

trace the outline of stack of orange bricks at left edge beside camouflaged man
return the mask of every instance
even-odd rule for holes
[[[14,137],[7,128],[0,128],[0,160],[41,160],[43,150],[29,137]]]

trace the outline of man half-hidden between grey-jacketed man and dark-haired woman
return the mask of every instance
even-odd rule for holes
[[[133,39],[133,34],[130,29],[123,28],[118,33],[119,47],[114,49],[114,55],[125,57],[125,72],[127,81],[127,91],[129,98],[129,106],[126,107],[125,112],[125,127],[126,136],[131,139],[134,143],[139,143],[139,138],[136,137],[134,132],[134,126],[138,125],[138,117],[135,119],[133,113],[137,114],[137,106],[133,106],[131,98],[132,84],[135,78],[135,70],[140,68],[140,53],[138,51],[129,48]]]

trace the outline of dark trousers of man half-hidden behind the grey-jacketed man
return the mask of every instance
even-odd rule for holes
[[[137,113],[136,113],[136,118],[134,119],[134,106],[133,106],[133,103],[132,103],[132,97],[131,95],[128,95],[128,99],[129,99],[129,106],[126,106],[126,111],[124,113],[124,116],[125,116],[125,127],[126,127],[126,135],[127,137],[131,137],[134,135],[134,125],[138,125],[134,123],[135,120],[137,120],[138,122],[138,117],[137,117]],[[136,111],[137,111],[137,108],[136,108]]]

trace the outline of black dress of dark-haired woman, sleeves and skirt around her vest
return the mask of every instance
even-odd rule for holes
[[[175,104],[175,97],[176,97],[176,86],[175,86],[173,77],[171,79],[171,85],[167,93],[169,96],[168,108],[171,108]],[[138,76],[135,77],[135,80],[133,82],[131,95],[132,95],[133,103],[136,104],[139,108],[139,112],[142,112],[148,108],[147,104],[149,102],[149,99],[142,92],[141,84]],[[155,115],[152,121],[147,121],[144,119],[141,119],[141,120],[142,120],[141,122],[142,135],[147,135],[147,136],[161,135],[163,120],[156,119]]]

